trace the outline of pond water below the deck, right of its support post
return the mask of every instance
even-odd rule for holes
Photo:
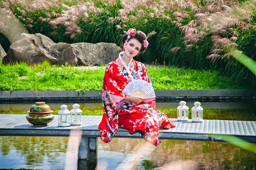
[[[256,168],[256,154],[230,143],[162,140],[151,150],[144,139],[114,138],[108,144],[99,140],[98,163],[105,161],[107,170],[224,170]],[[144,147],[144,148],[143,148]],[[143,148],[146,153],[137,152]],[[136,154],[137,153],[137,154]],[[144,161],[143,161],[144,160]]]

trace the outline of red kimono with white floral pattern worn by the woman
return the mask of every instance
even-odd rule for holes
[[[120,57],[106,67],[102,89],[103,117],[99,124],[101,140],[105,143],[111,141],[120,127],[130,134],[139,132],[146,141],[158,146],[161,143],[158,139],[159,128],[169,129],[175,125],[167,115],[155,108],[155,98],[144,99],[139,104],[123,100],[126,95],[122,91],[133,79],[143,79],[151,84],[143,63],[132,59],[130,73],[132,77]]]

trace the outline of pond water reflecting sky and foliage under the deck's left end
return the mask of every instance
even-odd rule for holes
[[[63,169],[68,137],[0,137],[0,168]]]

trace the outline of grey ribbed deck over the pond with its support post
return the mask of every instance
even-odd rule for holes
[[[82,116],[82,125],[58,126],[58,115],[48,126],[37,127],[30,124],[26,115],[0,115],[0,136],[69,136],[71,130],[82,130],[79,147],[79,159],[88,159],[90,150],[97,151],[98,125],[101,116]],[[244,142],[256,144],[256,121],[204,120],[201,123],[177,121],[171,119],[175,128],[160,130],[159,139],[221,141],[222,137],[231,135]],[[129,134],[119,128],[115,137],[141,138],[139,133]],[[224,141],[225,142],[225,141]]]

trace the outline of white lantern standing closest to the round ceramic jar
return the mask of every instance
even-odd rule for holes
[[[70,111],[65,104],[61,105],[61,110],[58,111],[58,126],[70,126]]]

